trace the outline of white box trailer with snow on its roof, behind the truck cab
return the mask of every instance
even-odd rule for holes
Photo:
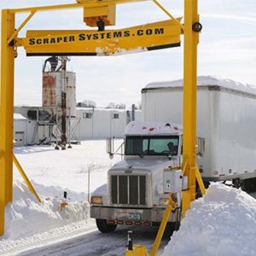
[[[256,87],[198,77],[197,136],[205,153],[197,163],[205,181],[256,177]],[[143,120],[183,123],[183,81],[151,83],[142,90]]]

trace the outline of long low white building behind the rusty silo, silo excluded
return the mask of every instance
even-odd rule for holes
[[[48,108],[45,108],[48,109]],[[35,113],[35,114],[31,114]],[[50,142],[50,133],[55,127],[46,121],[40,121],[38,115],[46,113],[44,107],[16,107],[14,138],[15,146]],[[76,118],[71,119],[72,141],[90,139],[120,138],[124,136],[125,125],[131,117],[125,109],[76,108]],[[142,111],[135,111],[135,119],[142,119]],[[69,137],[69,119],[67,117],[67,137]],[[47,138],[47,139],[45,139]],[[52,137],[54,139],[54,137]],[[75,139],[73,139],[75,138]]]

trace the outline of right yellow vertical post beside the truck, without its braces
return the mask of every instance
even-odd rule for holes
[[[199,32],[193,30],[199,21],[197,0],[184,0],[183,52],[183,161],[187,162],[184,175],[189,177],[189,190],[183,192],[183,216],[195,200],[196,168],[196,66]]]

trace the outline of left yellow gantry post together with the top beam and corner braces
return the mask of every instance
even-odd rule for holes
[[[38,11],[57,9],[84,9],[105,6],[106,4],[143,2],[147,0],[115,0],[115,1],[88,1],[84,3],[71,3],[43,7],[2,10],[2,42],[1,42],[1,96],[0,96],[0,236],[4,233],[4,208],[13,200],[13,113],[14,113],[14,77],[15,77],[15,49],[18,46],[18,34],[26,26],[32,16]],[[153,0],[154,3],[158,3]],[[169,17],[172,17],[166,9],[158,4]],[[15,29],[15,15],[29,13],[26,20]],[[183,26],[172,17],[181,29]],[[16,160],[16,159],[15,159]],[[15,162],[18,163],[18,162]],[[21,166],[20,166],[21,167]],[[21,169],[20,169],[21,170]],[[19,171],[20,171],[19,170]],[[23,172],[23,171],[22,171]],[[28,179],[25,179],[26,181]],[[32,188],[32,184],[29,185]],[[33,189],[31,189],[33,190]],[[35,194],[36,195],[36,194]],[[38,196],[38,195],[36,195]]]

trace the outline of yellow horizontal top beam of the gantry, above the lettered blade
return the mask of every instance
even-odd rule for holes
[[[9,9],[10,13],[27,13],[33,11],[48,11],[48,10],[57,10],[57,9],[84,9],[89,7],[97,7],[104,6],[108,4],[121,4],[121,3],[136,3],[136,2],[144,2],[149,0],[116,0],[116,1],[88,1],[88,3],[67,3],[67,4],[58,4],[58,5],[48,5],[48,6],[36,6],[36,7],[27,7],[20,9]]]

